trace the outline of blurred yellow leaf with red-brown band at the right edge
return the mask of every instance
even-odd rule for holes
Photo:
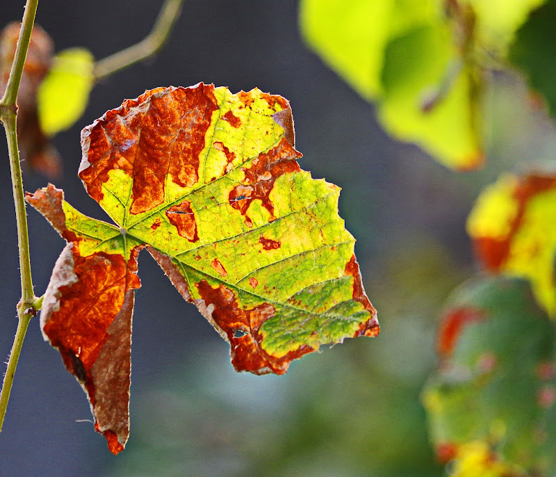
[[[479,196],[467,221],[484,268],[525,277],[544,309],[556,314],[556,177],[502,176]]]

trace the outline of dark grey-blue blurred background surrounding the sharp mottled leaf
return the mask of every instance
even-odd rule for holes
[[[39,3],[37,23],[56,50],[83,46],[104,58],[143,38],[162,0]],[[0,24],[24,0],[3,0]],[[167,44],[151,60],[92,91],[83,118],[55,138],[55,181],[83,213],[106,218],[76,170],[79,130],[125,98],[199,81],[232,92],[255,86],[291,102],[302,168],[343,188],[340,214],[382,334],[347,340],[294,362],[286,376],[236,374],[227,343],[141,254],[133,326],[131,437],[111,455],[94,432],[85,394],[42,340],[38,318],[24,343],[0,438],[0,476],[443,475],[427,443],[420,389],[435,365],[443,300],[473,273],[464,222],[478,191],[521,161],[553,156],[552,123],[532,112],[522,82],[498,76],[487,93],[488,165],[461,174],[413,145],[395,143],[363,102],[304,46],[296,1],[185,0]],[[20,286],[6,141],[0,140],[0,356],[17,326]],[[27,191],[47,184],[32,172]],[[63,240],[28,211],[33,279],[44,293]]]

